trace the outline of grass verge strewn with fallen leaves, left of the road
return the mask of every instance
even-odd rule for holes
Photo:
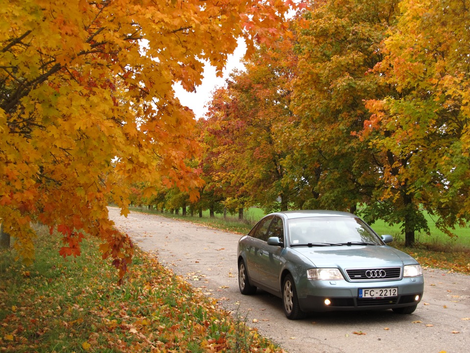
[[[64,259],[37,233],[33,265],[0,252],[1,352],[283,352],[139,250],[118,286],[94,239]]]

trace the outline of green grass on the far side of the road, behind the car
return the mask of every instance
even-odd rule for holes
[[[164,217],[179,219],[186,222],[203,224],[208,227],[227,230],[239,234],[247,234],[256,222],[264,216],[261,209],[252,207],[245,212],[242,222],[234,216],[224,220],[223,215],[215,214],[215,218],[209,217],[209,211],[203,212],[203,217],[190,217],[161,213],[156,210],[143,208],[131,208],[134,211],[159,214]],[[433,220],[427,217],[430,225],[431,235],[424,233],[416,234],[416,245],[411,248],[404,246],[404,238],[400,231],[400,225],[388,226],[383,221],[377,221],[371,225],[378,234],[390,234],[394,237],[392,246],[409,253],[415,257],[424,267],[441,268],[448,271],[470,273],[470,228],[456,229],[457,237],[449,238],[442,231],[433,227]]]

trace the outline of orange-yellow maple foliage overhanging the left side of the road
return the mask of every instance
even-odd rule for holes
[[[287,3],[290,3],[289,1]],[[197,196],[188,165],[193,114],[174,96],[218,74],[243,37],[272,43],[288,5],[262,0],[1,1],[0,219],[26,261],[31,221],[64,235],[102,239],[121,276],[132,255],[107,217],[108,195],[127,213],[127,189],[147,181]]]

